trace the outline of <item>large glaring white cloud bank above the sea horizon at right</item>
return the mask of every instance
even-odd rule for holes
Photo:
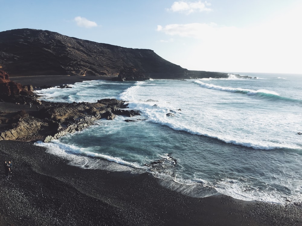
[[[254,27],[191,23],[158,25],[156,30],[175,44],[186,42],[179,51],[190,57],[173,55],[169,61],[190,70],[301,73],[301,21],[295,10]]]

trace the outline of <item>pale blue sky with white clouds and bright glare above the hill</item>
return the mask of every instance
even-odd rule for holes
[[[152,49],[188,70],[302,74],[301,0],[0,0],[0,5],[0,31],[50,30]]]

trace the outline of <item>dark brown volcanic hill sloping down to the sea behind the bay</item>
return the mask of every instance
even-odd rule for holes
[[[10,76],[95,75],[126,80],[226,77],[219,72],[189,71],[150,49],[131,49],[77,39],[47,30],[0,32],[0,67]],[[131,79],[131,73],[133,75]],[[129,74],[130,73],[130,74]]]

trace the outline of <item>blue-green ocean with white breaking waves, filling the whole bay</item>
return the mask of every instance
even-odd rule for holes
[[[301,202],[302,75],[239,74],[252,79],[93,80],[38,90],[53,102],[121,99],[141,115],[36,145],[82,168],[148,172],[188,196]]]

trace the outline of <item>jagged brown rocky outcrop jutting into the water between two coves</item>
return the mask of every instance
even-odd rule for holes
[[[99,100],[97,103],[47,103],[42,104],[35,115],[19,112],[11,128],[0,133],[0,140],[50,140],[57,139],[67,133],[80,131],[96,120],[107,118],[112,120],[116,115],[133,117],[136,111],[127,111],[124,101],[116,99]]]

